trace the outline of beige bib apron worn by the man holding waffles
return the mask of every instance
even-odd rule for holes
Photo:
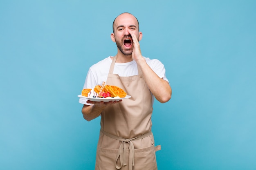
[[[106,84],[124,89],[129,99],[106,107],[101,113],[101,130],[95,170],[157,170],[151,132],[152,96],[139,75],[119,77],[113,74],[116,57],[110,66]]]

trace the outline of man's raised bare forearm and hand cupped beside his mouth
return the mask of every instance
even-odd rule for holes
[[[129,33],[132,36],[133,41],[132,59],[135,60],[137,65],[141,68],[142,74],[144,75],[144,79],[148,85],[148,88],[159,102],[168,102],[171,99],[172,94],[171,86],[167,81],[160,78],[150,68],[150,66],[148,66],[146,60],[141,55],[139,41],[137,40],[135,34],[130,30]]]

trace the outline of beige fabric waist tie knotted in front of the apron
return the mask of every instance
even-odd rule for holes
[[[105,132],[103,129],[101,129],[101,132],[104,135],[108,136],[108,137],[111,137],[113,139],[122,141],[122,143],[119,147],[119,151],[117,152],[117,156],[116,156],[116,163],[115,163],[116,165],[115,166],[116,166],[117,169],[120,169],[122,166],[127,165],[127,161],[126,161],[127,160],[127,158],[126,158],[127,146],[125,145],[125,143],[130,144],[130,146],[129,146],[129,149],[130,149],[130,152],[129,152],[129,170],[132,170],[132,166],[134,166],[135,149],[134,149],[134,145],[132,144],[132,141],[142,139],[144,137],[148,137],[149,135],[152,134],[152,132],[150,130],[148,133],[145,133],[144,135],[140,135],[140,136],[130,138],[130,139],[125,139],[123,137],[118,137],[118,136],[112,135],[108,132]],[[119,157],[120,157],[120,166],[117,165],[117,160],[118,160]]]

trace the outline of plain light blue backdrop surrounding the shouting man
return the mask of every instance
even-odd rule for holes
[[[159,170],[256,170],[255,0],[0,0],[0,168],[93,170],[99,121],[78,103],[134,14],[142,54],[166,67],[155,102]]]

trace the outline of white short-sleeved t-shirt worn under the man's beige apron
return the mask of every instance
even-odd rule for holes
[[[165,76],[164,64],[157,59],[150,60],[149,58],[144,57],[148,66],[162,79],[168,82],[168,79]],[[84,88],[94,88],[96,85],[101,85],[102,82],[106,82],[108,78],[108,72],[110,65],[112,63],[111,57],[107,57],[104,60],[99,61],[98,63],[92,65],[89,68],[87,73]],[[137,64],[134,60],[127,63],[115,63],[113,74],[118,74],[120,77],[128,77],[133,75],[138,75]],[[153,95],[152,95],[153,97]],[[153,97],[154,98],[154,97]],[[80,98],[79,103],[87,104],[87,99]]]

